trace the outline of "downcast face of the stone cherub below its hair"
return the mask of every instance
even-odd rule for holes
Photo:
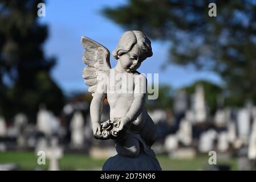
[[[133,46],[131,51],[119,57],[121,66],[125,69],[125,71],[132,72],[140,67],[141,61],[140,61],[139,55],[140,55],[140,48],[137,44],[135,44],[135,46]]]

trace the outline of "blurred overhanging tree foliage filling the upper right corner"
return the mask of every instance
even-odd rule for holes
[[[212,2],[216,17],[208,15]],[[130,0],[103,14],[125,29],[171,42],[169,63],[217,72],[229,104],[256,101],[255,1]]]

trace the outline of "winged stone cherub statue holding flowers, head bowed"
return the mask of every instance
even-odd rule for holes
[[[83,78],[93,96],[90,114],[94,137],[115,140],[117,154],[124,158],[139,158],[144,152],[151,158],[153,167],[143,169],[161,169],[151,149],[156,129],[145,108],[147,79],[136,71],[153,55],[151,41],[143,32],[124,32],[112,52],[117,60],[113,69],[107,48],[85,36],[81,42],[86,49],[83,61],[88,65],[83,69]],[[108,121],[101,123],[104,99],[108,101],[110,113]]]

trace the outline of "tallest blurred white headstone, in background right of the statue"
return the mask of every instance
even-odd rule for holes
[[[196,122],[206,121],[205,92],[202,85],[196,86],[196,93],[194,94],[194,112]]]

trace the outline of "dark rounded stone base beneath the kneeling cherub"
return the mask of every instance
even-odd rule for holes
[[[158,160],[145,153],[137,158],[127,158],[117,154],[109,158],[102,169],[103,171],[161,171]]]

